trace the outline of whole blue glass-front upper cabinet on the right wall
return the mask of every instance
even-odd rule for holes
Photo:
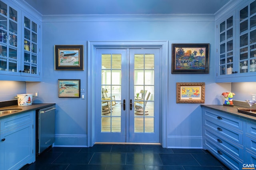
[[[216,82],[255,81],[256,0],[242,1],[217,21]]]

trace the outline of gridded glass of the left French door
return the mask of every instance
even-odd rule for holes
[[[102,54],[102,132],[121,132],[121,54]]]

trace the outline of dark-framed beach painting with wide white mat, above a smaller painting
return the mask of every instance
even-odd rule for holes
[[[84,45],[54,45],[55,70],[84,70]]]

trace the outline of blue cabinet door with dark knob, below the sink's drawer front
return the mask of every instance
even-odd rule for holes
[[[32,163],[32,123],[0,134],[0,169],[18,169]],[[11,158],[11,159],[10,159]]]

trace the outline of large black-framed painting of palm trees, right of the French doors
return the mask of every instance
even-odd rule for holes
[[[172,44],[172,73],[209,73],[209,43]]]

